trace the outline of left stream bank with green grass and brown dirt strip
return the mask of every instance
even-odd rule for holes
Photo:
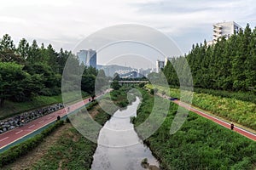
[[[117,95],[113,102],[117,105],[128,105],[127,90],[122,88],[113,92]],[[91,108],[89,113],[102,125],[110,118],[99,105]],[[52,139],[44,139],[41,147],[38,146],[29,152],[24,156],[26,158],[21,158],[3,169],[19,169],[20,166],[24,167],[23,169],[90,169],[96,144],[85,139],[69,123],[57,129],[56,133],[58,135],[53,135]],[[44,147],[46,145],[47,147]],[[23,162],[24,160],[26,162]]]

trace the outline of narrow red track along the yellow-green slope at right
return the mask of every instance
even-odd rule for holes
[[[230,128],[230,123],[228,123],[228,122],[224,122],[224,121],[222,121],[222,120],[220,120],[220,119],[218,119],[218,118],[216,118],[214,116],[210,116],[207,113],[199,111],[199,110],[191,107],[190,105],[187,105],[187,104],[185,104],[185,103],[183,103],[183,102],[181,102],[179,100],[174,100],[173,102],[176,103],[177,105],[180,105],[180,106],[188,109],[189,111],[193,111],[193,112],[195,112],[196,114],[198,114],[200,116],[203,116],[203,117],[205,117],[205,118],[207,118],[209,120],[212,120],[213,122],[217,122],[219,125],[221,125],[223,127]],[[253,134],[253,133],[248,132],[247,130],[244,130],[244,129],[240,128],[240,127],[236,127],[235,126],[234,131],[236,131],[237,133],[240,133],[241,135],[247,137],[248,139],[252,139],[252,140],[256,141],[256,135]]]

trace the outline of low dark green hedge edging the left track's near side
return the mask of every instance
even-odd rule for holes
[[[40,144],[46,136],[54,132],[57,127],[61,127],[64,124],[63,121],[56,122],[54,125],[44,129],[44,131],[31,139],[27,139],[21,144],[17,144],[11,147],[9,150],[4,151],[0,154],[0,167],[7,165],[17,160],[20,156],[26,155],[28,151],[33,150]]]

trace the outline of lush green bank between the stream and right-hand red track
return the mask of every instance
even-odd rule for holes
[[[140,125],[152,111],[154,98],[142,91],[143,103],[133,120]],[[162,105],[166,99],[158,96]],[[161,105],[154,105],[161,116]],[[172,120],[177,113],[177,105],[171,103],[170,111],[160,128],[144,140],[154,156],[160,160],[162,169],[254,169],[256,167],[256,143],[240,134],[209,121],[193,112],[177,133],[170,134]],[[157,121],[157,117],[155,117]],[[148,125],[150,126],[150,125]],[[150,127],[148,127],[150,128]],[[147,129],[144,129],[147,133]]]

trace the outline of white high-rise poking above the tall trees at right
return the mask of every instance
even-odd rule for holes
[[[216,43],[220,37],[229,38],[234,33],[238,33],[240,29],[242,29],[241,26],[236,24],[234,21],[213,24],[213,38],[212,41],[207,42],[207,45]]]

